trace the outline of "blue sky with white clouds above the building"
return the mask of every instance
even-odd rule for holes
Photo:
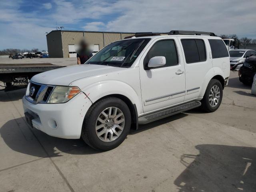
[[[0,50],[46,49],[45,32],[198,30],[256,38],[255,0],[0,0]]]

